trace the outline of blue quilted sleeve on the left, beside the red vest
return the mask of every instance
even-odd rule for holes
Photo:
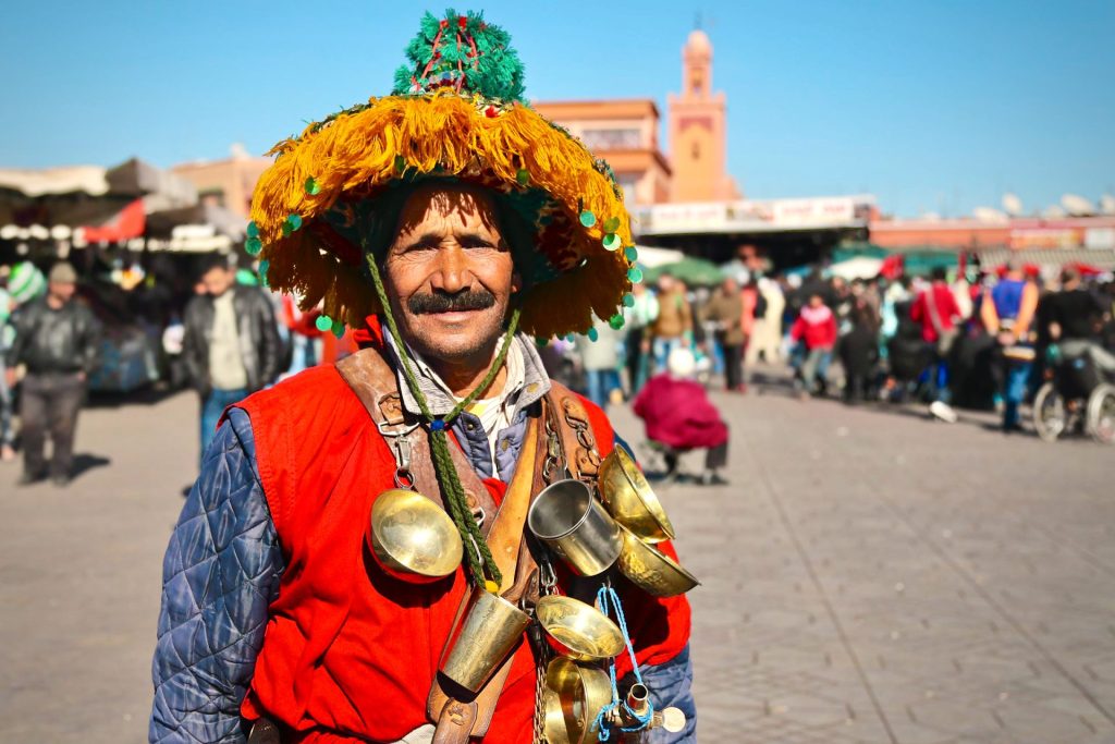
[[[282,570],[251,423],[233,408],[163,560],[152,744],[244,742],[240,703]]]

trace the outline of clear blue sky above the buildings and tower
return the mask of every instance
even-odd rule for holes
[[[446,3],[447,4],[447,3]],[[390,88],[421,10],[381,2],[18,2],[0,25],[0,166],[261,153]],[[1115,2],[516,0],[533,99],[680,87],[697,12],[756,199],[871,192],[888,212],[1115,192]]]

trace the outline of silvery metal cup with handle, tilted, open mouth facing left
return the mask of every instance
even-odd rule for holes
[[[580,481],[558,481],[542,491],[526,524],[580,576],[603,573],[623,549],[619,524]]]

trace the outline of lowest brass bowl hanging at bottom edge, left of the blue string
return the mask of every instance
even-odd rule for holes
[[[550,744],[597,741],[592,724],[612,702],[608,673],[559,656],[546,667],[545,684],[542,697],[546,741]]]

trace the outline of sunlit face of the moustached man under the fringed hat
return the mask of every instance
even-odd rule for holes
[[[420,187],[403,206],[385,283],[407,342],[456,363],[491,352],[521,288],[491,199],[446,185]]]

